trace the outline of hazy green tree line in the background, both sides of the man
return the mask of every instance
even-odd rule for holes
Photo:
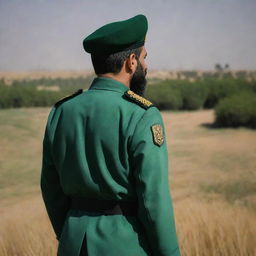
[[[255,79],[250,78],[250,82],[246,79],[236,79],[230,72],[205,72],[202,76],[195,71],[181,71],[178,74],[186,79],[149,81],[145,96],[160,110],[214,108],[226,97],[242,91],[256,92]],[[242,77],[241,74],[238,73]],[[60,98],[80,88],[89,88],[92,80],[93,76],[41,78],[15,80],[11,85],[6,85],[4,80],[0,80],[0,108],[52,106]]]

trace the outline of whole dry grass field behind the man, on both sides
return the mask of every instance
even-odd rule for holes
[[[0,111],[0,255],[51,256],[39,191],[48,108]],[[214,129],[213,111],[163,112],[183,256],[256,255],[256,132]]]

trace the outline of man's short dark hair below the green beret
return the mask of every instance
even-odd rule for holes
[[[94,71],[97,75],[120,72],[124,61],[131,55],[135,54],[139,58],[142,48],[129,49],[121,52],[112,53],[109,55],[96,55],[92,54],[92,64]]]

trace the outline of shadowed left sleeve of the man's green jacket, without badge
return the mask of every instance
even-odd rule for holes
[[[41,191],[47,213],[59,240],[70,209],[70,199],[63,193],[58,172],[55,168],[49,140],[49,127],[47,125],[43,140],[43,159],[41,170]]]

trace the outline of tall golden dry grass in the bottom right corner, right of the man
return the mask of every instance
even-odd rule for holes
[[[183,256],[255,256],[256,216],[224,202],[176,204]]]

